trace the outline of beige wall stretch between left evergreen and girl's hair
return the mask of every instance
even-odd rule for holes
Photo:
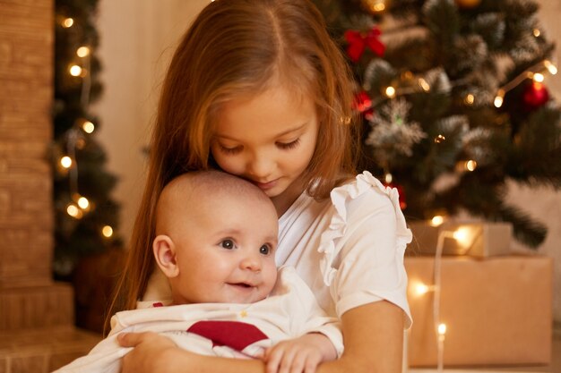
[[[99,58],[105,91],[93,110],[108,168],[119,177],[122,230],[131,232],[142,197],[149,126],[160,81],[186,26],[210,0],[101,0]]]

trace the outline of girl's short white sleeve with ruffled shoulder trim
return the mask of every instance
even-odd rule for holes
[[[403,254],[412,235],[397,190],[364,172],[354,182],[333,189],[331,199],[335,213],[318,251],[337,314],[341,317],[359,305],[386,300],[404,310],[409,327]]]

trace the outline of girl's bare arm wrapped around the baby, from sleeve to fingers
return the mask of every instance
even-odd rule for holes
[[[399,307],[388,301],[375,301],[350,309],[342,315],[341,327],[345,343],[341,359],[322,363],[317,373],[401,372],[403,311]],[[262,360],[197,355],[153,333],[123,335],[119,343],[135,347],[125,355],[122,373],[265,372]]]

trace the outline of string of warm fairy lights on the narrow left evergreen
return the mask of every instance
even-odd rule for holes
[[[64,29],[77,27],[76,21],[72,17],[61,17],[60,25]],[[91,47],[81,45],[76,48],[75,56],[78,61],[69,64],[67,73],[74,78],[81,79],[80,103],[86,108],[90,106],[91,98]],[[78,162],[76,160],[76,149],[84,148],[86,137],[84,134],[91,134],[95,131],[95,124],[90,120],[81,118],[74,123],[66,133],[66,154],[59,160],[68,175],[70,202],[66,205],[65,212],[74,219],[82,219],[83,216],[91,212],[95,208],[91,202],[79,191],[78,188]],[[99,228],[99,233],[106,239],[113,236],[113,227],[103,225]]]

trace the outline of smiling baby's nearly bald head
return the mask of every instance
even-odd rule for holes
[[[153,251],[174,304],[251,303],[272,291],[278,220],[255,185],[219,171],[182,174],[156,211]]]

